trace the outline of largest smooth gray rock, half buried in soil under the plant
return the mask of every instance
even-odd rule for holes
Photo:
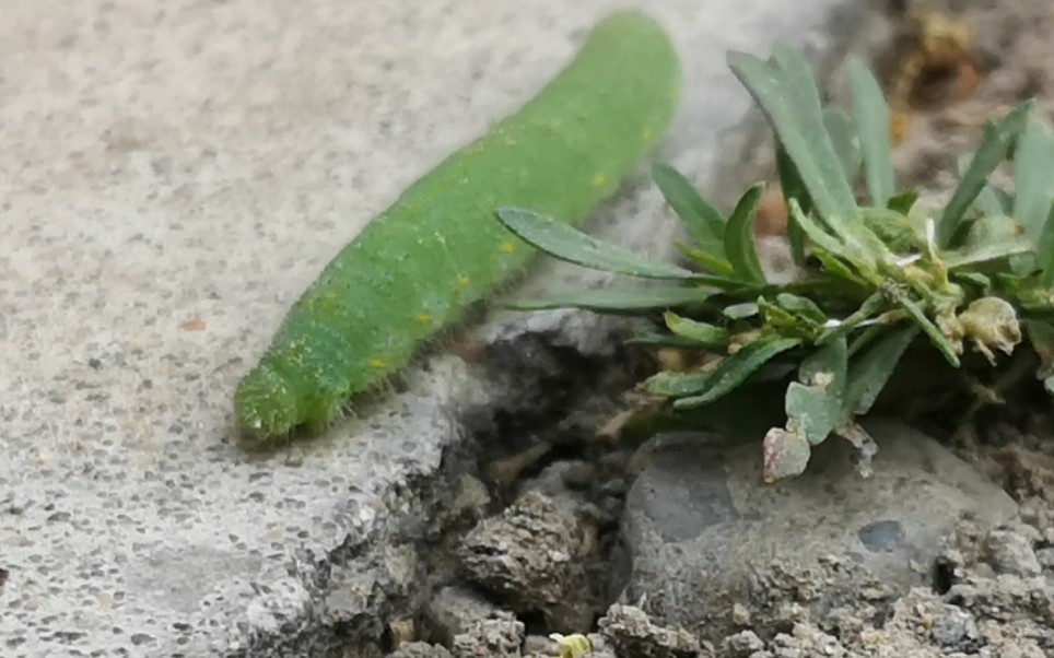
[[[994,527],[1014,514],[1006,493],[932,438],[889,422],[868,430],[880,447],[870,479],[832,438],[804,475],[775,485],[761,482],[760,440],[723,449],[705,435],[666,439],[626,500],[633,567],[620,600],[643,598],[656,623],[713,639],[738,630],[736,602],[753,623],[793,623],[798,609],[926,584],[963,515]]]

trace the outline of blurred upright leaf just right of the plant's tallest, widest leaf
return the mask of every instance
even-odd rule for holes
[[[881,85],[864,62],[852,58],[846,69],[853,97],[853,118],[864,152],[867,193],[875,205],[886,205],[897,191],[889,145],[889,106]]]

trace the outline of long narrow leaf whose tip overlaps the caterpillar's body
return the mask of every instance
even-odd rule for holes
[[[713,279],[676,265],[654,260],[619,245],[601,242],[570,224],[522,208],[502,208],[497,216],[505,226],[528,244],[585,268],[630,274],[642,279],[704,281]]]

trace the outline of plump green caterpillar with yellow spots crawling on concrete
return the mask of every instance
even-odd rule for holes
[[[665,132],[679,85],[656,22],[601,21],[535,98],[411,185],[325,268],[238,384],[243,438],[325,430],[353,395],[406,365],[532,255],[496,209],[583,221]]]

